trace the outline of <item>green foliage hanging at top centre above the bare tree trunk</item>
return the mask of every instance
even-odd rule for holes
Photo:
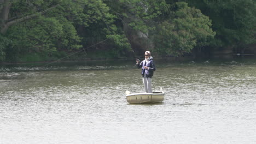
[[[117,1],[121,5],[115,13],[119,19],[125,24],[130,26],[135,31],[149,33],[155,29],[154,19],[161,15],[161,10],[168,9],[164,0],[132,0],[132,1]],[[114,7],[109,5],[109,7]]]

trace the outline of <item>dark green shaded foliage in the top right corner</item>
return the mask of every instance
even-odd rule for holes
[[[189,0],[188,3],[212,20],[216,31],[216,38],[212,40],[214,47],[256,43],[255,1]]]

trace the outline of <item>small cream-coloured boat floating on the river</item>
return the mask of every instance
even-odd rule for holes
[[[131,93],[126,91],[126,100],[130,104],[161,103],[165,98],[165,92],[153,91],[153,93]]]

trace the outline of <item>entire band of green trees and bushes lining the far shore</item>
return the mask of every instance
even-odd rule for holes
[[[0,64],[256,54],[251,0],[0,1]]]

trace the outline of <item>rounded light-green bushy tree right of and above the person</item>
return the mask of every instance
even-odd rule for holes
[[[199,9],[190,8],[185,2],[177,2],[171,8],[170,17],[156,26],[156,52],[179,56],[196,45],[206,45],[207,39],[214,37],[211,21]]]

